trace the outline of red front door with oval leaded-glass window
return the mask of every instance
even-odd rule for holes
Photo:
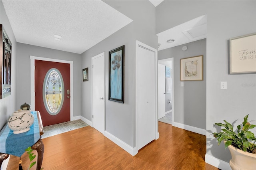
[[[70,121],[70,64],[35,60],[35,68],[35,110],[43,125]]]

